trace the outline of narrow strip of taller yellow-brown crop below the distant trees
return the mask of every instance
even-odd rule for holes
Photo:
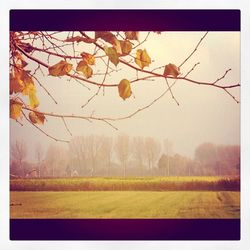
[[[239,177],[81,177],[13,179],[11,191],[239,191]]]

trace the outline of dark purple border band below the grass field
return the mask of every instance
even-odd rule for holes
[[[240,240],[239,219],[11,219],[11,240]]]

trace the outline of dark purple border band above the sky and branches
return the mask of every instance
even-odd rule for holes
[[[240,10],[10,10],[10,30],[240,31]]]

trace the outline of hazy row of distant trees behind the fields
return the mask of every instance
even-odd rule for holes
[[[23,154],[20,153],[23,151]],[[225,176],[240,174],[240,146],[204,143],[194,158],[173,150],[169,140],[151,137],[74,137],[68,148],[36,148],[37,163],[25,161],[25,145],[11,150],[11,178],[97,176]]]

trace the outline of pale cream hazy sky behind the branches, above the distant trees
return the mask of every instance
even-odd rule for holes
[[[146,33],[140,34],[143,40]],[[174,63],[179,65],[194,49],[204,32],[164,32],[161,35],[151,33],[147,42],[141,48],[146,48],[153,63],[145,69],[151,70],[158,66]],[[135,43],[136,44],[136,43]],[[79,52],[88,51],[86,44],[80,43]],[[91,51],[90,51],[91,52]],[[38,56],[41,57],[39,54]],[[47,62],[45,57],[42,60]],[[50,65],[59,60],[50,61]],[[189,78],[212,82],[221,77],[229,68],[232,71],[220,81],[221,84],[236,84],[240,82],[240,33],[239,32],[210,32],[202,42],[198,51],[181,68],[185,74],[193,65],[200,65],[190,74]],[[75,62],[73,62],[75,63]],[[94,67],[103,71],[105,68],[99,61]],[[35,64],[30,63],[30,68]],[[112,66],[115,68],[115,66]],[[118,64],[118,72],[113,72],[107,77],[108,83],[119,83],[123,78],[135,79],[136,73],[121,64]],[[163,70],[163,69],[162,69]],[[47,70],[44,69],[47,74]],[[139,76],[142,74],[139,73]],[[132,84],[133,96],[123,101],[117,88],[106,88],[105,95],[101,91],[84,109],[81,105],[96,91],[96,87],[86,85],[84,88],[75,81],[67,81],[67,78],[42,76],[37,77],[58,101],[55,105],[48,95],[37,87],[40,100],[39,110],[64,114],[120,117],[125,116],[138,108],[141,108],[155,98],[165,89],[164,79],[155,81],[140,81]],[[103,76],[93,79],[99,81]],[[171,84],[173,80],[169,80]],[[113,122],[119,130],[115,131],[103,122],[88,122],[85,120],[67,119],[68,127],[73,135],[105,134],[115,136],[126,133],[131,136],[150,136],[159,140],[168,138],[173,142],[174,151],[186,156],[193,156],[195,148],[203,142],[216,144],[240,143],[240,104],[237,104],[225,91],[213,87],[195,85],[187,81],[178,81],[172,89],[174,96],[179,101],[177,106],[170,93],[156,102],[150,108],[136,116],[122,121]],[[239,99],[239,89],[232,90]],[[40,142],[44,148],[54,143],[32,125],[23,121],[21,127],[15,121],[10,122],[11,141],[23,138],[29,145],[29,159],[33,159],[34,148]],[[48,118],[42,128],[49,134],[60,139],[70,139],[62,120]],[[61,142],[57,142],[62,144]]]

